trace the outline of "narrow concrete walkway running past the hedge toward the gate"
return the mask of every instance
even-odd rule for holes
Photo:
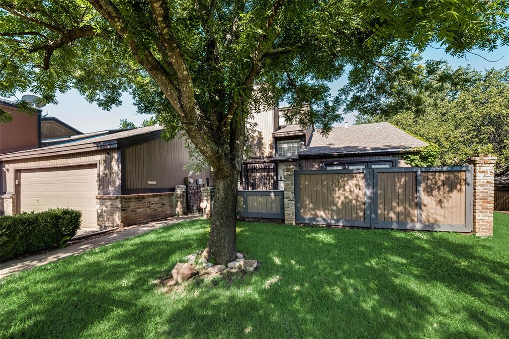
[[[145,225],[129,226],[121,228],[117,231],[106,233],[97,238],[83,240],[78,243],[65,246],[63,249],[53,250],[51,252],[36,254],[30,257],[11,260],[0,264],[0,279],[5,278],[9,274],[20,272],[23,270],[31,269],[36,266],[45,265],[49,262],[57,261],[69,256],[81,254],[91,249],[104,246],[112,242],[124,240],[134,237],[143,233],[147,233],[158,228],[179,223],[181,221],[188,221],[199,219],[202,216],[199,214],[183,215],[182,217],[173,217],[158,222],[153,222]]]

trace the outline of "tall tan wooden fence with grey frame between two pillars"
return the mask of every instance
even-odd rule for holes
[[[472,168],[295,171],[295,221],[472,231]]]

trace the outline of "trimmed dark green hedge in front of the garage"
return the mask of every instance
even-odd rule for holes
[[[81,211],[48,209],[0,217],[0,262],[60,247],[81,223]]]

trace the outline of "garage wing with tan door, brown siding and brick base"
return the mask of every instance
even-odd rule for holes
[[[156,126],[102,131],[2,154],[0,203],[4,210],[12,204],[13,213],[76,208],[83,212],[84,229],[168,217],[175,213],[173,191],[184,184],[190,159],[183,138],[165,142],[161,132]],[[192,177],[205,182],[210,176],[207,167]]]

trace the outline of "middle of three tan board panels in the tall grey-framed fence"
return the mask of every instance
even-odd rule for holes
[[[417,222],[415,172],[378,173],[378,220]]]

